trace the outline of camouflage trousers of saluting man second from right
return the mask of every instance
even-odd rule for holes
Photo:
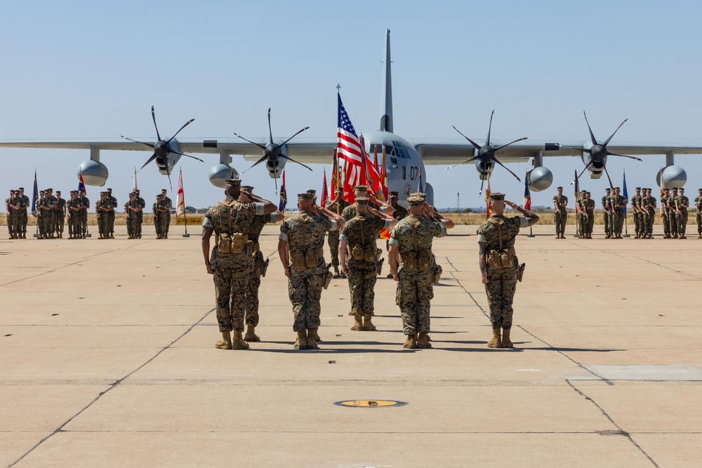
[[[434,297],[434,286],[430,272],[399,272],[395,292],[395,304],[402,316],[402,332],[428,333],[430,331],[430,307]]]

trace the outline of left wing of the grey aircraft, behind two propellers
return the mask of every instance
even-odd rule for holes
[[[135,138],[141,142],[154,144],[154,138]],[[256,161],[263,156],[263,149],[239,138],[180,138],[180,151],[204,154],[241,154],[246,160]],[[266,145],[267,138],[251,139]],[[277,143],[284,140],[274,139]],[[51,149],[100,149],[110,151],[150,151],[149,147],[124,139],[90,140],[3,140],[0,147],[7,148],[51,148]],[[286,145],[285,154],[301,163],[331,163],[336,147],[336,138],[296,138]]]

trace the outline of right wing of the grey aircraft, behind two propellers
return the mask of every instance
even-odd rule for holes
[[[465,140],[407,140],[425,163],[425,165],[442,165],[442,164],[458,164],[466,159],[470,159],[477,150]],[[481,140],[474,140],[481,144]],[[506,145],[509,140],[494,140],[492,145],[498,147]],[[581,152],[565,147],[589,149],[592,144],[588,141],[563,141],[563,142],[545,142],[537,140],[524,140],[516,142],[508,147],[500,149],[497,152],[497,157],[503,163],[516,163],[528,161],[529,158],[536,156],[539,152],[543,156],[580,156]],[[610,152],[618,154],[628,154],[640,156],[646,154],[702,154],[702,145],[679,145],[671,143],[618,143],[616,145],[609,144],[607,149]]]

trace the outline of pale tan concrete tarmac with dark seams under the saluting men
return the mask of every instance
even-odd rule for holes
[[[433,349],[402,348],[395,282],[383,277],[378,331],[350,330],[347,283],[335,279],[321,349],[297,351],[268,226],[263,341],[225,351],[199,227],[167,240],[116,230],[0,241],[0,466],[700,465],[693,235],[559,240],[534,227],[516,244],[527,270],[515,349],[488,349],[475,227],[459,226],[435,239]]]

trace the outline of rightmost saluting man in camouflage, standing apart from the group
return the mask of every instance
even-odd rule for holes
[[[490,307],[490,321],[492,323],[492,340],[487,344],[489,348],[511,348],[510,340],[512,329],[512,302],[517,288],[519,274],[519,261],[515,252],[515,240],[519,229],[534,225],[538,216],[529,210],[520,208],[516,203],[505,201],[505,195],[490,194],[494,214],[490,219],[480,225],[477,230],[479,245],[479,265],[482,274],[482,283]],[[503,215],[505,204],[524,215],[524,218],[515,216],[507,218]],[[490,258],[503,263],[499,264]],[[504,265],[510,262],[511,265]],[[500,334],[502,331],[502,335]]]

